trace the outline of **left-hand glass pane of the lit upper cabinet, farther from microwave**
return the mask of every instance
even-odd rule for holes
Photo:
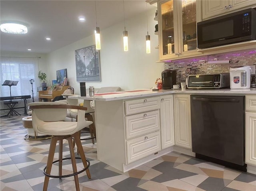
[[[161,4],[163,55],[174,53],[173,0]]]

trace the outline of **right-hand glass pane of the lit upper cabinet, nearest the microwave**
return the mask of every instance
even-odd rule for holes
[[[182,0],[183,52],[196,49],[196,0]]]

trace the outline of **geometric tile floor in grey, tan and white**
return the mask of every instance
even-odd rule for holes
[[[1,191],[42,190],[50,140],[24,140],[22,117],[0,118]],[[122,173],[97,160],[91,140],[83,141],[83,147],[92,178],[79,174],[81,191],[256,191],[256,175],[175,152]],[[69,156],[67,142],[63,155]],[[81,169],[81,161],[77,162]],[[63,169],[72,171],[70,161],[64,161]],[[58,166],[52,171],[57,175]],[[74,191],[74,185],[73,177],[50,178],[48,191]]]

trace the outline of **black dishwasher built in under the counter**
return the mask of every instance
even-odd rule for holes
[[[196,158],[246,171],[244,100],[245,96],[190,96]]]

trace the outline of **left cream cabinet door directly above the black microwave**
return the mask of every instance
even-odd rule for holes
[[[228,5],[228,0],[202,1],[202,19],[204,20],[228,12]]]

